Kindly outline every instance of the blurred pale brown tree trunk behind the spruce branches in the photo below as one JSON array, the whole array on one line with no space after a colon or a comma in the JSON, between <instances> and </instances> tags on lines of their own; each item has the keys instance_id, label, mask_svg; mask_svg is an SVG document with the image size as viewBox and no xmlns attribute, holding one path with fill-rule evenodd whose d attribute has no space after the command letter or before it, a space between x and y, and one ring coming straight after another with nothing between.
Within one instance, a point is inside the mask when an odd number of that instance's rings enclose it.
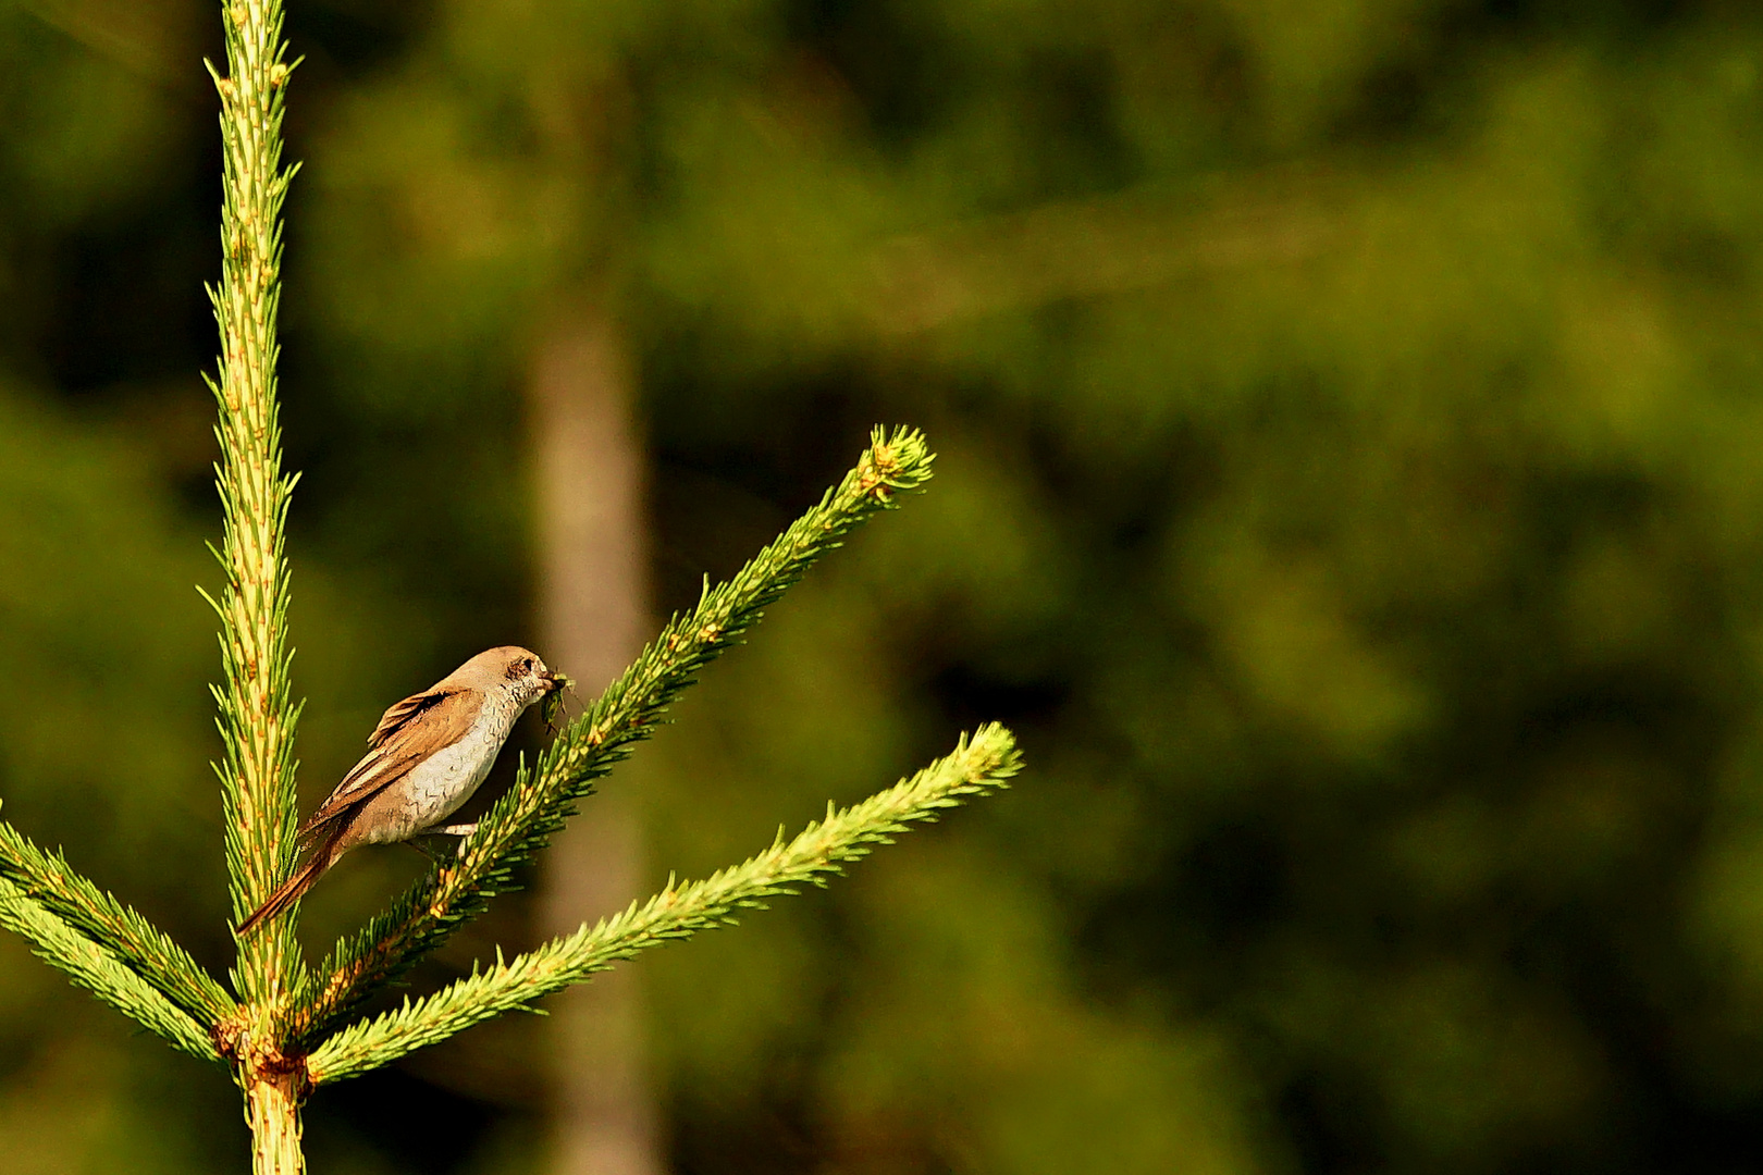
<instances>
[{"instance_id":1,"label":"blurred pale brown tree trunk behind the spruce branches","mask_svg":"<svg viewBox=\"0 0 1763 1175\"><path fill-rule=\"evenodd\" d=\"M640 650L647 615L643 460L617 329L578 310L541 338L532 377L543 657L594 698ZM626 905L642 835L617 787L591 798L545 854L541 930L564 934ZM552 1001L557 1175L658 1175L642 997L621 967Z\"/></svg>"}]
</instances>

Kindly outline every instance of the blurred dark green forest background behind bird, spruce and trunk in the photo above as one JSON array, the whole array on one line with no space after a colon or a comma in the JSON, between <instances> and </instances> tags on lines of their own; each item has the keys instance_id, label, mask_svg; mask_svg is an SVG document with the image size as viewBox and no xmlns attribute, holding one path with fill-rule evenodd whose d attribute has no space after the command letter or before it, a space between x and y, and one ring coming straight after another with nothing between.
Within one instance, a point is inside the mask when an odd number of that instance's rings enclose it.
<instances>
[{"instance_id":1,"label":"blurred dark green forest background behind bird, spruce and trunk","mask_svg":"<svg viewBox=\"0 0 1763 1175\"><path fill-rule=\"evenodd\" d=\"M666 1170L1763 1166L1763 12L289 9L309 805L541 639L559 317L628 356L651 613L871 423L941 453L606 787L649 884L982 719L1030 772L631 969ZM206 4L0 0L0 798L224 969L203 55ZM323 1090L314 1170L554 1170L547 1032ZM7 1171L243 1147L0 942Z\"/></svg>"}]
</instances>

